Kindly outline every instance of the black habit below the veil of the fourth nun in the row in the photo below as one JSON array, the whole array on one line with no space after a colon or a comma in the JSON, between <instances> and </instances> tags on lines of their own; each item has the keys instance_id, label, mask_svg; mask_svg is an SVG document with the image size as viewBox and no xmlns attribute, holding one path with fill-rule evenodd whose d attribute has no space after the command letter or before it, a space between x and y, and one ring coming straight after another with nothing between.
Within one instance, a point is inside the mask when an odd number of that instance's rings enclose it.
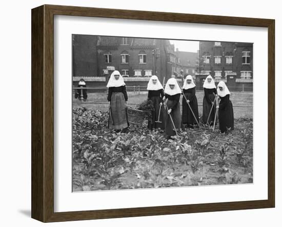
<instances>
[{"instance_id":1,"label":"black habit below the veil of the fourth nun in the row","mask_svg":"<svg viewBox=\"0 0 282 227\"><path fill-rule=\"evenodd\" d=\"M197 101L196 96L194 97L193 100L191 100L189 102L189 105L190 105L191 109L193 110L194 115L195 115L195 117L198 121L199 113L198 113L198 101ZM188 124L188 125L197 124L197 122L196 122L196 120L193 116L193 113L191 112L191 109L189 108L185 98L183 97L182 98L182 123L183 124Z\"/></svg>"}]
</instances>

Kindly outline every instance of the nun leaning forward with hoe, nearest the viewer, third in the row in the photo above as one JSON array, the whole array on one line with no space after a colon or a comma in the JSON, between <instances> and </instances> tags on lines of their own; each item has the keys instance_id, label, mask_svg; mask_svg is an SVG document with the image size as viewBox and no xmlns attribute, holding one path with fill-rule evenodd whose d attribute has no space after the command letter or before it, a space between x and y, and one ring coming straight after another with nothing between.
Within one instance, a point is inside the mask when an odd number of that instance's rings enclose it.
<instances>
[{"instance_id":1,"label":"nun leaning forward with hoe, nearest the viewer, third in the row","mask_svg":"<svg viewBox=\"0 0 282 227\"><path fill-rule=\"evenodd\" d=\"M165 121L167 138L171 138L171 136L175 136L176 135L175 129L179 130L181 127L180 103L179 103L180 94L181 94L181 89L178 86L176 79L170 78L167 81L165 87L165 96L163 98L163 100L167 99L167 103L164 104L167 107L166 121Z\"/></svg>"}]
</instances>

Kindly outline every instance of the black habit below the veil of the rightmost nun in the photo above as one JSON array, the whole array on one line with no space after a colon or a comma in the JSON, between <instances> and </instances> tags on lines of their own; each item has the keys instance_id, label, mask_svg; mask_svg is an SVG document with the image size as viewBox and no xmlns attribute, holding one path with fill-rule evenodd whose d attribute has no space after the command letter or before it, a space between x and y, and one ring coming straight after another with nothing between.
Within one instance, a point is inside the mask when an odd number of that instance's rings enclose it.
<instances>
[{"instance_id":1,"label":"black habit below the veil of the rightmost nun","mask_svg":"<svg viewBox=\"0 0 282 227\"><path fill-rule=\"evenodd\" d=\"M218 109L218 120L221 133L225 133L227 129L234 130L233 105L230 100L224 109Z\"/></svg>"}]
</instances>

